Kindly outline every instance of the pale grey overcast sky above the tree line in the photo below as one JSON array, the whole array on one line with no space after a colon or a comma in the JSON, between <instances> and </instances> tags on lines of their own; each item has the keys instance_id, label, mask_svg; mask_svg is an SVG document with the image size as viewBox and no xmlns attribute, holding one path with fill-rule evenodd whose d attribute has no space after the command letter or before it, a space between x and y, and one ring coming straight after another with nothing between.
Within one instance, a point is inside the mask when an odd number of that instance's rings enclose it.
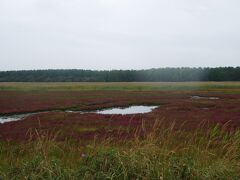
<instances>
[{"instance_id":1,"label":"pale grey overcast sky above the tree line","mask_svg":"<svg viewBox=\"0 0 240 180\"><path fill-rule=\"evenodd\" d=\"M239 0L0 0L0 70L240 66Z\"/></svg>"}]
</instances>

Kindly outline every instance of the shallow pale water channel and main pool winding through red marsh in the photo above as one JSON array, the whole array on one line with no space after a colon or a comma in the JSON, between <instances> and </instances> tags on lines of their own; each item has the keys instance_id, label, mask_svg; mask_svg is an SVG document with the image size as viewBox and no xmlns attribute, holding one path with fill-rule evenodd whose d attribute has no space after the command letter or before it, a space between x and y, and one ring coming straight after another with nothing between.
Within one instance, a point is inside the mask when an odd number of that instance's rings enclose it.
<instances>
[{"instance_id":1,"label":"shallow pale water channel and main pool winding through red marsh","mask_svg":"<svg viewBox=\"0 0 240 180\"><path fill-rule=\"evenodd\" d=\"M96 114L143 114L143 113L148 113L151 112L153 109L157 108L158 106L130 106L126 108L111 108L111 109L103 109L103 110L98 110L98 111L62 111L62 112L67 112L67 113L96 113ZM44 113L44 112L49 112L49 111L43 111L39 113ZM60 111L61 112L61 111ZM15 114L15 115L5 115L5 116L0 116L0 124L6 123L6 122L11 122L11 121L19 121L22 120L30 115L33 114L39 114L39 113L24 113L24 114Z\"/></svg>"}]
</instances>

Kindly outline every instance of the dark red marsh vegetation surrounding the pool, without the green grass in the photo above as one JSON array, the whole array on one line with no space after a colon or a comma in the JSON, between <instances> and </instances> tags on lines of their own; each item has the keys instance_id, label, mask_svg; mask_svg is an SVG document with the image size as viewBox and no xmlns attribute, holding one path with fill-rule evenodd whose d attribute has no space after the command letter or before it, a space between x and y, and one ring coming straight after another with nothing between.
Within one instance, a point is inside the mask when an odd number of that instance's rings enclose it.
<instances>
[{"instance_id":1,"label":"dark red marsh vegetation surrounding the pool, without the green grass","mask_svg":"<svg viewBox=\"0 0 240 180\"><path fill-rule=\"evenodd\" d=\"M195 96L192 97L192 96ZM203 98L196 98L196 96ZM217 98L209 98L217 97ZM45 112L24 120L0 124L0 139L26 140L33 132L60 132L60 139L93 139L95 136L129 138L142 123L151 130L156 120L175 122L175 128L195 129L199 124L240 127L240 94L218 91L0 91L0 114L46 110L97 110L129 105L159 105L150 113L101 115Z\"/></svg>"}]
</instances>

